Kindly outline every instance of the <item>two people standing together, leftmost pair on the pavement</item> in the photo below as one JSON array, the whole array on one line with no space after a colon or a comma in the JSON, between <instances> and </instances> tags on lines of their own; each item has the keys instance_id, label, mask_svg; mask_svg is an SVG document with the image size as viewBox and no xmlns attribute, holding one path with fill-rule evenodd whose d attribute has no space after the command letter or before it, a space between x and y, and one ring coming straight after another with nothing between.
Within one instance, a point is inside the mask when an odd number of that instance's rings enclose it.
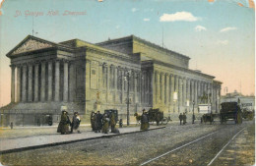
<instances>
[{"instance_id":1,"label":"two people standing together, leftmost pair on the pavement","mask_svg":"<svg viewBox=\"0 0 256 166\"><path fill-rule=\"evenodd\" d=\"M68 116L68 112L62 111L57 133L60 133L61 135L67 135L72 134L74 131L76 131L78 134L81 134L81 132L79 131L80 123L81 119L78 112L74 112L71 122ZM71 128L71 130L69 130L69 127Z\"/></svg>"}]
</instances>

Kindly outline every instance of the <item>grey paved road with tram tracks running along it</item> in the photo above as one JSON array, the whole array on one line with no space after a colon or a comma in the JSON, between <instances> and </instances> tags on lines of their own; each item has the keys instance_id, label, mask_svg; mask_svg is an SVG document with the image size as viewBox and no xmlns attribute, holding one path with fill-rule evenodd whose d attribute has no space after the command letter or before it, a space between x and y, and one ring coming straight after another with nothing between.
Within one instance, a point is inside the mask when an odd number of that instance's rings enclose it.
<instances>
[{"instance_id":1,"label":"grey paved road with tram tracks running along it","mask_svg":"<svg viewBox=\"0 0 256 166\"><path fill-rule=\"evenodd\" d=\"M212 165L246 165L254 163L253 132L252 122L239 126L172 125L162 130L4 154L0 160L8 165L208 165L223 150ZM249 150L247 160L235 158L237 153L231 153L234 149L239 149L240 156Z\"/></svg>"}]
</instances>

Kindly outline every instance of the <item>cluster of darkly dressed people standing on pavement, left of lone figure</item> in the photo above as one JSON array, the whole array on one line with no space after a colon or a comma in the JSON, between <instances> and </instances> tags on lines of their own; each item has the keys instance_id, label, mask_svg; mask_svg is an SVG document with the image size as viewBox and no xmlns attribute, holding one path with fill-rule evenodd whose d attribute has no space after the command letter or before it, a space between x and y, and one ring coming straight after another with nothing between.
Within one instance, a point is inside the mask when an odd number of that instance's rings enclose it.
<instances>
[{"instance_id":1,"label":"cluster of darkly dressed people standing on pavement, left of lone figure","mask_svg":"<svg viewBox=\"0 0 256 166\"><path fill-rule=\"evenodd\" d=\"M114 112L111 112L110 115L104 113L100 114L99 111L96 113L93 111L91 114L91 127L93 132L103 134L108 134L109 126L111 127L111 133L119 133L119 131L115 128L116 120Z\"/></svg>"}]
</instances>

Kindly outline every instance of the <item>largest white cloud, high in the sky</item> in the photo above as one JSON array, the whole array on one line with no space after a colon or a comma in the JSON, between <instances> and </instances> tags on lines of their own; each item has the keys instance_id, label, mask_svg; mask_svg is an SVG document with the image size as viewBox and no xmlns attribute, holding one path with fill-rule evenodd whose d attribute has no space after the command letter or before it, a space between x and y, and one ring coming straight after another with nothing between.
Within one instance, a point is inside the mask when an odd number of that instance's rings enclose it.
<instances>
[{"instance_id":1,"label":"largest white cloud, high in the sky","mask_svg":"<svg viewBox=\"0 0 256 166\"><path fill-rule=\"evenodd\" d=\"M175 14L163 14L160 17L160 22L176 22L176 21L185 21L185 22L196 22L200 18L194 17L189 12L176 12Z\"/></svg>"}]
</instances>

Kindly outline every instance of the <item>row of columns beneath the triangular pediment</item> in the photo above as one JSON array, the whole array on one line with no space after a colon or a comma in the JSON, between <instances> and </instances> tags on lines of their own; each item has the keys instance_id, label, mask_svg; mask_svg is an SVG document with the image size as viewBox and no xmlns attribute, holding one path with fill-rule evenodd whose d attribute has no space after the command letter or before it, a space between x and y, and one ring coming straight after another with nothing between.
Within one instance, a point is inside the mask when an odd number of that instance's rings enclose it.
<instances>
[{"instance_id":1,"label":"row of columns beneath the triangular pediment","mask_svg":"<svg viewBox=\"0 0 256 166\"><path fill-rule=\"evenodd\" d=\"M11 65L11 101L73 101L75 96L74 64L48 60ZM17 76L16 74L17 70ZM15 89L15 85L17 85ZM16 96L16 97L15 97Z\"/></svg>"}]
</instances>

